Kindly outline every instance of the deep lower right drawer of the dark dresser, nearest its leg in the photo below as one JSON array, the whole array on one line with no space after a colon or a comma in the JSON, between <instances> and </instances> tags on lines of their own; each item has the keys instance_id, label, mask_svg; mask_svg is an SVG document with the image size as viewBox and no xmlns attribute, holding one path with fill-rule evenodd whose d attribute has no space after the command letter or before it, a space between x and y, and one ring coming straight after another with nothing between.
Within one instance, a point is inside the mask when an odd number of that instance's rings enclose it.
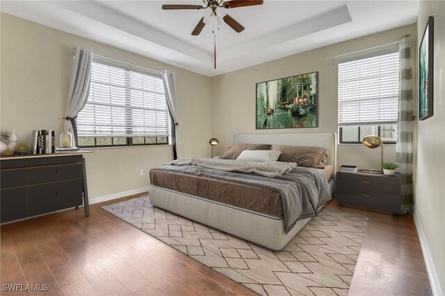
<instances>
[{"instance_id":1,"label":"deep lower right drawer of the dark dresser, nearest its leg","mask_svg":"<svg viewBox=\"0 0 445 296\"><path fill-rule=\"evenodd\" d=\"M29 186L28 216L81 205L82 186L82 180Z\"/></svg>"}]
</instances>

